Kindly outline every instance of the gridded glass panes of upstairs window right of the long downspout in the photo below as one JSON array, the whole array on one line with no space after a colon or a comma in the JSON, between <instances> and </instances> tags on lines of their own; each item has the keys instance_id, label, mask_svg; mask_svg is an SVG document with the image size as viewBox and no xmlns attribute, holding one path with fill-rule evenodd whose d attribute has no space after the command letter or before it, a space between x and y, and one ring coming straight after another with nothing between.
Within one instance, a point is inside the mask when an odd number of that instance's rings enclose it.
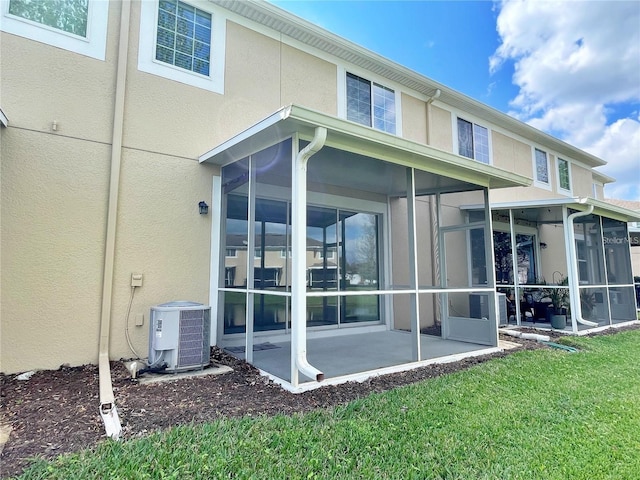
<instances>
[{"instance_id":1,"label":"gridded glass panes of upstairs window right of the long downspout","mask_svg":"<svg viewBox=\"0 0 640 480\"><path fill-rule=\"evenodd\" d=\"M211 14L178 0L160 0L156 60L209 75Z\"/></svg>"}]
</instances>

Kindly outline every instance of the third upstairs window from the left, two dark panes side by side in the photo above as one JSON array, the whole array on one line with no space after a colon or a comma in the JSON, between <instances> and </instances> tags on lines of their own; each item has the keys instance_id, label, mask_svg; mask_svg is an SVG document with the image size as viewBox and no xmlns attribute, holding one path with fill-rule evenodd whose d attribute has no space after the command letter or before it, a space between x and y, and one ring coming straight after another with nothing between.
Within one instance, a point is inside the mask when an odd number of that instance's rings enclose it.
<instances>
[{"instance_id":1,"label":"third upstairs window from the left, two dark panes side by side","mask_svg":"<svg viewBox=\"0 0 640 480\"><path fill-rule=\"evenodd\" d=\"M347 120L395 134L395 92L347 73Z\"/></svg>"}]
</instances>

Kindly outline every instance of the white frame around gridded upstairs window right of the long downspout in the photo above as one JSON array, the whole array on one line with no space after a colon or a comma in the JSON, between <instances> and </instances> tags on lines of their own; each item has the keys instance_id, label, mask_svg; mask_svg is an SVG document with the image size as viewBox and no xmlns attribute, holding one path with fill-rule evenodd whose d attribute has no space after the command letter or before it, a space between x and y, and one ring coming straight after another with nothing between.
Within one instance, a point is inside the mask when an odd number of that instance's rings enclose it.
<instances>
[{"instance_id":1,"label":"white frame around gridded upstairs window right of the long downspout","mask_svg":"<svg viewBox=\"0 0 640 480\"><path fill-rule=\"evenodd\" d=\"M221 10L213 7L210 2L203 0L180 1L211 14L211 63L209 75L202 75L156 60L158 0L141 2L138 70L192 87L224 94L224 52L227 19L221 13Z\"/></svg>"}]
</instances>

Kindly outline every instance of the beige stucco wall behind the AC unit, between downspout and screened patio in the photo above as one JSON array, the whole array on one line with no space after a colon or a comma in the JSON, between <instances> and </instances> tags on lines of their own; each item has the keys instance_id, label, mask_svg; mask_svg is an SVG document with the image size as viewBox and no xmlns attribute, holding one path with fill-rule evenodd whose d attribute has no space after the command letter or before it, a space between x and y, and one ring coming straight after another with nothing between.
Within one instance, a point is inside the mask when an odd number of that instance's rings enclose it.
<instances>
[{"instance_id":1,"label":"beige stucco wall behind the AC unit, between downspout and screened patio","mask_svg":"<svg viewBox=\"0 0 640 480\"><path fill-rule=\"evenodd\" d=\"M128 323L133 346L143 357L147 355L151 306L173 300L208 304L211 213L200 215L198 202L210 203L211 176L216 171L194 160L123 152L112 357L134 356L125 338L132 273L144 276L142 287L135 291ZM144 315L144 325L135 325L136 315Z\"/></svg>"}]
</instances>

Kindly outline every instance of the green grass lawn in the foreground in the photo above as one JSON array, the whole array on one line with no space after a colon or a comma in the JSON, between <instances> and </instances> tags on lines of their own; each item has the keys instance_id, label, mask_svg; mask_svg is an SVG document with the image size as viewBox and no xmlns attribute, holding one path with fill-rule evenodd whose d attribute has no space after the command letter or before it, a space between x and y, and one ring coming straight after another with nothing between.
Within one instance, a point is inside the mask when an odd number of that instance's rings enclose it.
<instances>
[{"instance_id":1,"label":"green grass lawn in the foreground","mask_svg":"<svg viewBox=\"0 0 640 480\"><path fill-rule=\"evenodd\" d=\"M640 330L570 344L332 410L105 442L20 478L640 478Z\"/></svg>"}]
</instances>

